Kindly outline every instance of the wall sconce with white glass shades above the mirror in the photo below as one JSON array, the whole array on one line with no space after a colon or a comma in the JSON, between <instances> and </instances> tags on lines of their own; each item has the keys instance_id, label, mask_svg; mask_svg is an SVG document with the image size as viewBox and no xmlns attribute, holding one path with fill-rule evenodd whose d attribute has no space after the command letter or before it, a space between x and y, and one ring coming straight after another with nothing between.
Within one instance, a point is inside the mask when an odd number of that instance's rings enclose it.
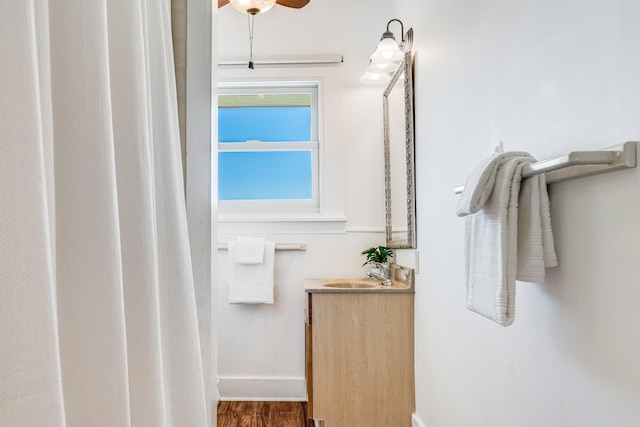
<instances>
[{"instance_id":1,"label":"wall sconce with white glass shades above the mirror","mask_svg":"<svg viewBox=\"0 0 640 427\"><path fill-rule=\"evenodd\" d=\"M400 35L402 40L400 43L396 41L395 36L389 30L392 22L400 24ZM410 52L413 47L413 28L409 28L404 32L404 25L399 19L392 19L387 22L387 31L382 33L380 42L376 50L371 54L369 65L365 69L364 74L360 77L362 83L382 84L391 79L391 75L398 69L400 61L406 52Z\"/></svg>"}]
</instances>

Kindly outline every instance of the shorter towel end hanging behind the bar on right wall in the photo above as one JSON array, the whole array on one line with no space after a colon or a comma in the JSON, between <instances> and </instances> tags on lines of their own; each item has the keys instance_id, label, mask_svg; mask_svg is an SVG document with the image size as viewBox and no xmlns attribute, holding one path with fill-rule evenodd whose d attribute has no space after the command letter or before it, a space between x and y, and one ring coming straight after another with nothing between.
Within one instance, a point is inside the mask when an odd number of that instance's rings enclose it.
<instances>
[{"instance_id":1,"label":"shorter towel end hanging behind the bar on right wall","mask_svg":"<svg viewBox=\"0 0 640 427\"><path fill-rule=\"evenodd\" d=\"M546 268L556 265L547 181L544 174L534 175L520 189L516 279L544 283Z\"/></svg>"}]
</instances>

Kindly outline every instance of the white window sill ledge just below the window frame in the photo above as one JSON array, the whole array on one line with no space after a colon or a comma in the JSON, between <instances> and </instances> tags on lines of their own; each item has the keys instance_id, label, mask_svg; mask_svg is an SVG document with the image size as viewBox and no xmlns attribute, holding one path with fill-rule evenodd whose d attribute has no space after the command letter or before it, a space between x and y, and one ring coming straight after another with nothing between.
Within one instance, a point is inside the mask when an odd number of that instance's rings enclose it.
<instances>
[{"instance_id":1,"label":"white window sill ledge just below the window frame","mask_svg":"<svg viewBox=\"0 0 640 427\"><path fill-rule=\"evenodd\" d=\"M220 214L220 233L344 234L347 218L343 216L282 214Z\"/></svg>"}]
</instances>

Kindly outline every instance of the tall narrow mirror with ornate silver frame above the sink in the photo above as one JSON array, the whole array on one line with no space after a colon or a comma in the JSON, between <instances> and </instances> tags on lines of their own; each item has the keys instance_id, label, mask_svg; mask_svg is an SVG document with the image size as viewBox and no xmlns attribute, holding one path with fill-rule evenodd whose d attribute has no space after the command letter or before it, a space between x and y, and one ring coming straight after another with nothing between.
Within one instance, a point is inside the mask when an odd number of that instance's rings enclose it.
<instances>
[{"instance_id":1,"label":"tall narrow mirror with ornate silver frame above the sink","mask_svg":"<svg viewBox=\"0 0 640 427\"><path fill-rule=\"evenodd\" d=\"M404 55L384 91L384 174L387 246L416 247L413 56Z\"/></svg>"}]
</instances>

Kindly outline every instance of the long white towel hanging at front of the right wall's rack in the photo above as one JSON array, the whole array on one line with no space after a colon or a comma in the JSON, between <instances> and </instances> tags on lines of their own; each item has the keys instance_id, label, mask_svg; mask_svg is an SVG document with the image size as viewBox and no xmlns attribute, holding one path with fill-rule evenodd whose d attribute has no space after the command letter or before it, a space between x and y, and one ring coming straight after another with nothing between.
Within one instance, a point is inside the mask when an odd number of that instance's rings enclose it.
<instances>
[{"instance_id":1,"label":"long white towel hanging at front of the right wall's rack","mask_svg":"<svg viewBox=\"0 0 640 427\"><path fill-rule=\"evenodd\" d=\"M492 189L470 185L474 180L469 180L464 189L464 192L489 195L477 213L467 216L467 306L503 326L513 323L515 314L518 196L522 168L534 161L526 153L510 156L497 168ZM493 167L486 162L480 167L487 166ZM474 171L473 175L480 177L485 173ZM475 183L490 185L486 179L475 180Z\"/></svg>"}]
</instances>

